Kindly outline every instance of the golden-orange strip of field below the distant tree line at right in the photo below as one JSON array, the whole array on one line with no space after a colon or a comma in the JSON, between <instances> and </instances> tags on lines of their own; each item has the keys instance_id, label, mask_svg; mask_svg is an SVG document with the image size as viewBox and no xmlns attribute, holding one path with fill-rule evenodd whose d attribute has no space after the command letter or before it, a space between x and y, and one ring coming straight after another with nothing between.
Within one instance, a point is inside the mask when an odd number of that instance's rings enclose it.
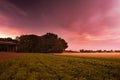
<instances>
[{"instance_id":1,"label":"golden-orange strip of field below the distant tree line at right","mask_svg":"<svg viewBox=\"0 0 120 80\"><path fill-rule=\"evenodd\" d=\"M55 55L120 59L120 53L62 53Z\"/></svg>"}]
</instances>

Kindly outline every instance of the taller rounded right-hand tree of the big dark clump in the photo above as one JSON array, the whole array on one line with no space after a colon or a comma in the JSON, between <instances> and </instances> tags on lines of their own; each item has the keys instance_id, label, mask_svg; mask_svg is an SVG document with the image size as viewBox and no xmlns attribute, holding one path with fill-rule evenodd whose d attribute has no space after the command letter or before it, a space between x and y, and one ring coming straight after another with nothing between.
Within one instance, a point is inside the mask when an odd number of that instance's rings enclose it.
<instances>
[{"instance_id":1,"label":"taller rounded right-hand tree of the big dark clump","mask_svg":"<svg viewBox=\"0 0 120 80\"><path fill-rule=\"evenodd\" d=\"M53 33L47 33L41 36L41 40L41 52L61 53L68 47L67 42L64 39L59 38L56 34Z\"/></svg>"}]
</instances>

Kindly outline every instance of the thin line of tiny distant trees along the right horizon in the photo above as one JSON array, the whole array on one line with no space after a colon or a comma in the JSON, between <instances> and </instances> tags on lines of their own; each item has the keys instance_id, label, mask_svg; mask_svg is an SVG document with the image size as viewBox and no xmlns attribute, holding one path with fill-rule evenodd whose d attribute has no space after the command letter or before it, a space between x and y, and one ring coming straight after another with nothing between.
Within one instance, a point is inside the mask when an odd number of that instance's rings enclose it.
<instances>
[{"instance_id":1,"label":"thin line of tiny distant trees along the right horizon","mask_svg":"<svg viewBox=\"0 0 120 80\"><path fill-rule=\"evenodd\" d=\"M120 52L120 50L85 50L85 49L80 49L81 53L103 53L103 52Z\"/></svg>"}]
</instances>

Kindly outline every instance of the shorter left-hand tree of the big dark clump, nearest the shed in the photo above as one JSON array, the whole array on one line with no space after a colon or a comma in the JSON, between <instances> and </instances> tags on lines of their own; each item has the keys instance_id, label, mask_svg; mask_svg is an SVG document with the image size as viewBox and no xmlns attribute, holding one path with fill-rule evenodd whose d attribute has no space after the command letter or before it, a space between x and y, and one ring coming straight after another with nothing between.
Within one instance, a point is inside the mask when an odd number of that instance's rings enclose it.
<instances>
[{"instance_id":1,"label":"shorter left-hand tree of the big dark clump, nearest the shed","mask_svg":"<svg viewBox=\"0 0 120 80\"><path fill-rule=\"evenodd\" d=\"M37 35L22 35L19 37L19 52L35 52L36 45L38 42Z\"/></svg>"}]
</instances>

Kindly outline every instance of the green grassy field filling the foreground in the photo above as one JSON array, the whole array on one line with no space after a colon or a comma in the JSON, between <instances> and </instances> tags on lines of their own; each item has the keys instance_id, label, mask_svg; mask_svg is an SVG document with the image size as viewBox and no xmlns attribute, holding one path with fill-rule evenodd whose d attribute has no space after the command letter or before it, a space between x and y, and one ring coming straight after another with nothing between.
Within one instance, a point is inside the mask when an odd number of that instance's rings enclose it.
<instances>
[{"instance_id":1,"label":"green grassy field filling the foreground","mask_svg":"<svg viewBox=\"0 0 120 80\"><path fill-rule=\"evenodd\" d=\"M120 80L120 60L25 54L0 62L0 80Z\"/></svg>"}]
</instances>

